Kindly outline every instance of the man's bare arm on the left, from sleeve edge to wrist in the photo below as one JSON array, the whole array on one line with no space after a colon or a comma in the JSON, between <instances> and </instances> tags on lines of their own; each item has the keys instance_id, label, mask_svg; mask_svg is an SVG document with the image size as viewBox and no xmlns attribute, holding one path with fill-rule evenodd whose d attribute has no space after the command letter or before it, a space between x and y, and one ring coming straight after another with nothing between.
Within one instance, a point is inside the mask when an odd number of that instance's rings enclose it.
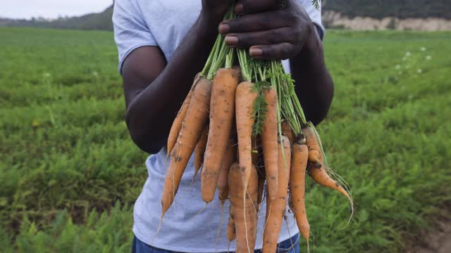
<instances>
[{"instance_id":1,"label":"man's bare arm on the left, from sleeve edge to wrist","mask_svg":"<svg viewBox=\"0 0 451 253\"><path fill-rule=\"evenodd\" d=\"M218 23L230 4L208 2L203 1L201 15L169 63L156 46L137 48L124 60L125 121L132 140L147 153L157 153L166 144L173 119L209 56Z\"/></svg>"}]
</instances>

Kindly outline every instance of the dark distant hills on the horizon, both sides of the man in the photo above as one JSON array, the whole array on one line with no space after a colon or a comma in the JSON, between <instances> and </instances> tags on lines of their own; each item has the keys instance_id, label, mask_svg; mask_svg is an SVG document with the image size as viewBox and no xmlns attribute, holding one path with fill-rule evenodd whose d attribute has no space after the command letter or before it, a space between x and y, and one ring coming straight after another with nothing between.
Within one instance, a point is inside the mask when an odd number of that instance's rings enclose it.
<instances>
[{"instance_id":1,"label":"dark distant hills on the horizon, both sides of the man","mask_svg":"<svg viewBox=\"0 0 451 253\"><path fill-rule=\"evenodd\" d=\"M323 0L323 11L333 11L348 18L444 18L451 20L451 0ZM113 30L113 6L92 13L57 20L11 20L0 18L0 26L49 27L82 30Z\"/></svg>"}]
</instances>

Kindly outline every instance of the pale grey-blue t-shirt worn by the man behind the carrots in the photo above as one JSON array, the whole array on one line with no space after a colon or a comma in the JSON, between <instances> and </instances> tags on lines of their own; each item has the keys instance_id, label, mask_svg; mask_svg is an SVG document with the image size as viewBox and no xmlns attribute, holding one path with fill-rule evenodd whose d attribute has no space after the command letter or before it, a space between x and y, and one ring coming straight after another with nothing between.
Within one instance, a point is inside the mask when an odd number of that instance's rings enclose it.
<instances>
[{"instance_id":1,"label":"pale grey-blue t-shirt worn by the man behind the carrots","mask_svg":"<svg viewBox=\"0 0 451 253\"><path fill-rule=\"evenodd\" d=\"M311 0L297 1L309 13L311 20L318 25L323 34L321 11L311 5ZM119 71L121 72L123 60L128 54L141 46L159 46L166 60L171 60L175 48L190 30L201 8L201 0L116 0L113 24L119 52ZM284 65L288 67L288 62ZM214 202L196 216L204 208L204 202L200 190L200 176L190 187L194 174L193 160L192 157L187 164L174 203L164 216L160 231L156 235L161 218L161 191L168 167L166 146L159 153L147 158L145 164L149 177L135 202L133 233L142 242L161 249L176 252L227 252L229 203L226 202L221 216L221 205L216 191ZM261 205L257 249L262 245L266 210L265 202ZM221 234L218 237L221 220ZM286 223L283 222L280 230L279 242L288 240L298 232L293 215L288 214L288 220ZM235 242L230 245L230 251L234 250Z\"/></svg>"}]
</instances>

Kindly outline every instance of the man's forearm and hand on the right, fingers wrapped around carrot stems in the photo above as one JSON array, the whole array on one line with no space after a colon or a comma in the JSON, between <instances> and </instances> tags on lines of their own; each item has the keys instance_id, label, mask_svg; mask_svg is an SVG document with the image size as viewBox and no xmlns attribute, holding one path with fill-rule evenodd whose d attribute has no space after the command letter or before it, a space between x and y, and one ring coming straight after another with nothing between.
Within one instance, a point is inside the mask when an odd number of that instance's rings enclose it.
<instances>
[{"instance_id":1,"label":"man's forearm and hand on the right, fingers wrapped around carrot stems","mask_svg":"<svg viewBox=\"0 0 451 253\"><path fill-rule=\"evenodd\" d=\"M290 59L295 92L307 119L319 124L333 98L333 80L324 63L323 45L316 26L296 0L239 0L235 20L221 22L218 30L226 44L249 48L258 59Z\"/></svg>"}]
</instances>

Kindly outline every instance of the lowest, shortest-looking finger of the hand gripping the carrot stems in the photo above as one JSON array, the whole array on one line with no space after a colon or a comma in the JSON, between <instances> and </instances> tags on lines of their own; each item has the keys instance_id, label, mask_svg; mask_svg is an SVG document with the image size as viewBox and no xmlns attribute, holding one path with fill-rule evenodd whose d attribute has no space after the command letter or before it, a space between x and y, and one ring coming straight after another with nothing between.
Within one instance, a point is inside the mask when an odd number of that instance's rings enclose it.
<instances>
[{"instance_id":1,"label":"lowest, shortest-looking finger of the hand gripping the carrot stems","mask_svg":"<svg viewBox=\"0 0 451 253\"><path fill-rule=\"evenodd\" d=\"M249 55L261 60L286 60L294 54L295 45L284 42L275 45L252 46Z\"/></svg>"}]
</instances>

